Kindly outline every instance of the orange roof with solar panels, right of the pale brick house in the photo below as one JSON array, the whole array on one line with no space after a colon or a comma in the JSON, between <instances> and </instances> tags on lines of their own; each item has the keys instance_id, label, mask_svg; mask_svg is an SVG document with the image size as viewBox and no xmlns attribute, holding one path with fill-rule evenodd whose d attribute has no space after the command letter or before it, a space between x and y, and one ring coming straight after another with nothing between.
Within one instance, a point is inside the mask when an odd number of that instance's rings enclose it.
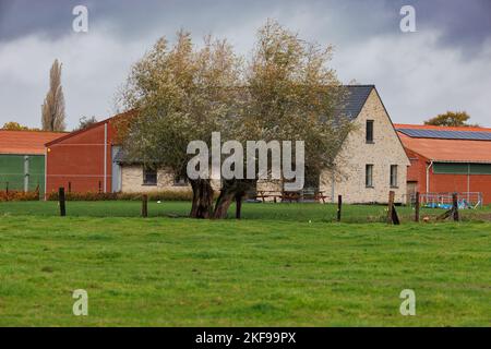
<instances>
[{"instance_id":1,"label":"orange roof with solar panels, right of the pale brick house","mask_svg":"<svg viewBox=\"0 0 491 349\"><path fill-rule=\"evenodd\" d=\"M442 131L491 132L486 128L447 128L431 125L396 124L396 129L423 129ZM441 140L410 137L398 132L404 146L423 157L442 163L487 163L491 164L491 142L470 140Z\"/></svg>"}]
</instances>

